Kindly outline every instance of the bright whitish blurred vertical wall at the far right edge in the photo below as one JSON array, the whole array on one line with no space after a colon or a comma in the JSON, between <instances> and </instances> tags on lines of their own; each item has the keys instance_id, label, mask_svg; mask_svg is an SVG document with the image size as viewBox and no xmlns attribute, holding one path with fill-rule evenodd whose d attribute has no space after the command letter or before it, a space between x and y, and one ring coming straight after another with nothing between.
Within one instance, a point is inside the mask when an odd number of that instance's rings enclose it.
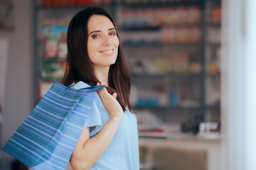
<instances>
[{"instance_id":1,"label":"bright whitish blurred vertical wall at the far right edge","mask_svg":"<svg viewBox=\"0 0 256 170\"><path fill-rule=\"evenodd\" d=\"M255 8L255 0L223 0L223 170L256 169Z\"/></svg>"}]
</instances>

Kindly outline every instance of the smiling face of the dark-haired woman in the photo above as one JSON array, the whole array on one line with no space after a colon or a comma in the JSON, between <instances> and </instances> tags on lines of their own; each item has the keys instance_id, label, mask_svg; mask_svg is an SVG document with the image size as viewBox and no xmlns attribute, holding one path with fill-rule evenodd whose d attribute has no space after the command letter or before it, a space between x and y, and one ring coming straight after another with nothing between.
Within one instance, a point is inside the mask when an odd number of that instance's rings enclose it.
<instances>
[{"instance_id":1,"label":"smiling face of the dark-haired woman","mask_svg":"<svg viewBox=\"0 0 256 170\"><path fill-rule=\"evenodd\" d=\"M107 16L93 15L87 25L87 50L94 67L110 67L117 60L117 30Z\"/></svg>"}]
</instances>

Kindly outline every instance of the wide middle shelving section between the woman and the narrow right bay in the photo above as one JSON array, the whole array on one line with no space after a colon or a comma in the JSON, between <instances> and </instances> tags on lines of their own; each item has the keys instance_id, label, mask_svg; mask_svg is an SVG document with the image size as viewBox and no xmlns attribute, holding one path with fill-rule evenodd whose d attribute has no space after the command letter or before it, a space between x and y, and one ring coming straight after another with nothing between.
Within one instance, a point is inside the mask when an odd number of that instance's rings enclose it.
<instances>
[{"instance_id":1,"label":"wide middle shelving section between the woman and the narrow right bay","mask_svg":"<svg viewBox=\"0 0 256 170\"><path fill-rule=\"evenodd\" d=\"M198 127L206 118L205 1L126 0L118 6L140 137L169 138L168 125L187 121Z\"/></svg>"}]
</instances>

